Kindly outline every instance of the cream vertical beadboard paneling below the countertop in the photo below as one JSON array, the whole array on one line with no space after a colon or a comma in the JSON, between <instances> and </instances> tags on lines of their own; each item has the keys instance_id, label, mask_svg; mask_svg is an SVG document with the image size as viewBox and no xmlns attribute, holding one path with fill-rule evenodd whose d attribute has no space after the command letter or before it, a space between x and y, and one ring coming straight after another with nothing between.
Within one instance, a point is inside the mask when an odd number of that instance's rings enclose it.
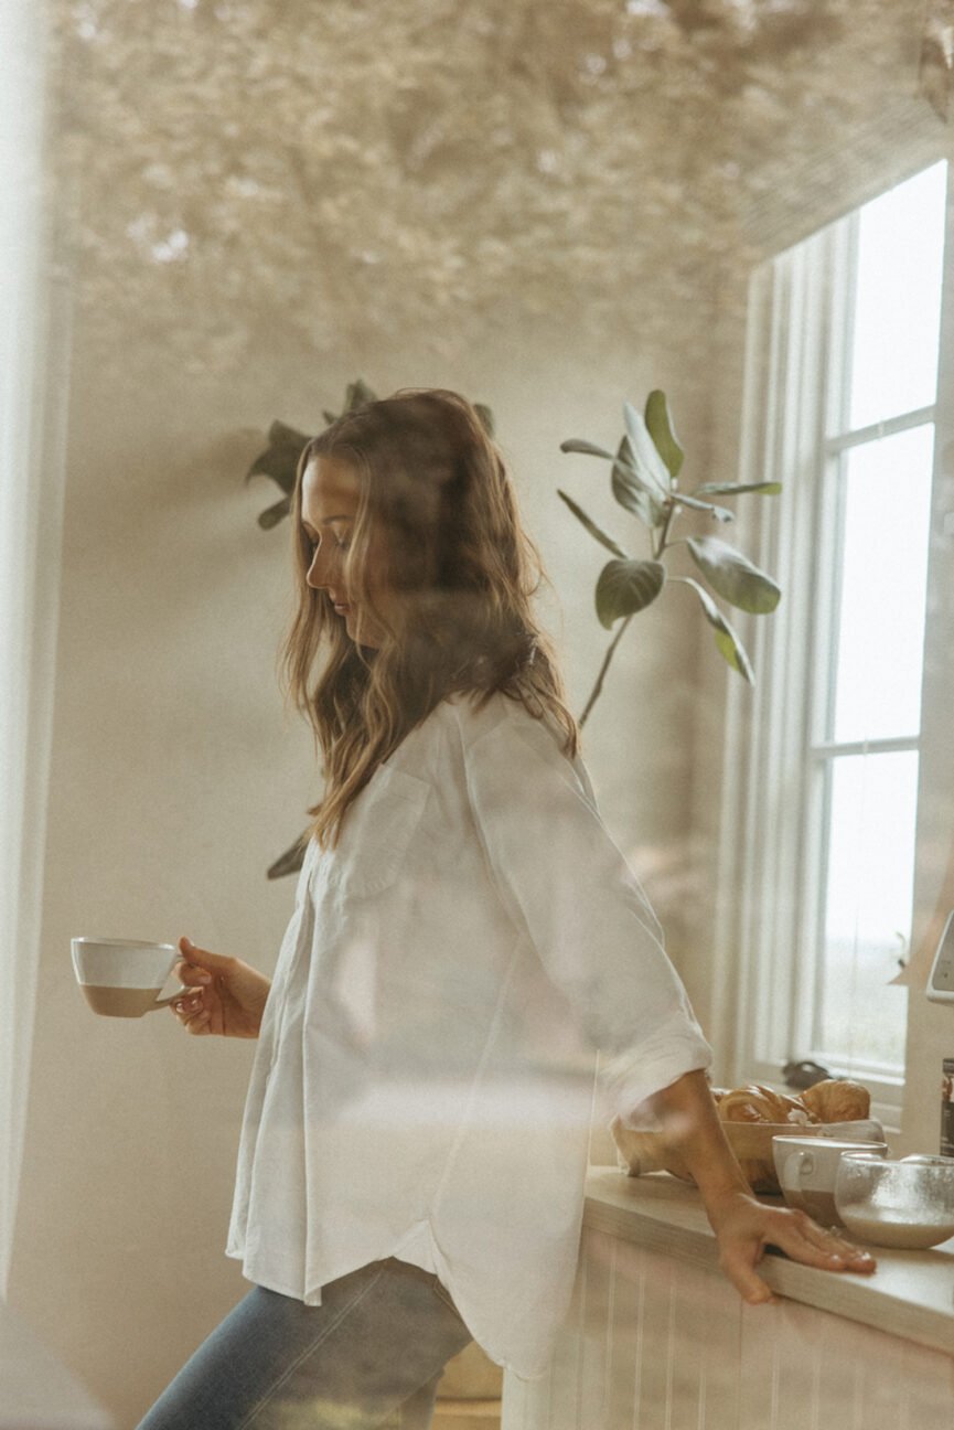
<instances>
[{"instance_id":1,"label":"cream vertical beadboard paneling below the countertop","mask_svg":"<svg viewBox=\"0 0 954 1430\"><path fill-rule=\"evenodd\" d=\"M711 1268L585 1230L548 1374L502 1430L947 1430L954 1358L830 1311L745 1306Z\"/></svg>"}]
</instances>

